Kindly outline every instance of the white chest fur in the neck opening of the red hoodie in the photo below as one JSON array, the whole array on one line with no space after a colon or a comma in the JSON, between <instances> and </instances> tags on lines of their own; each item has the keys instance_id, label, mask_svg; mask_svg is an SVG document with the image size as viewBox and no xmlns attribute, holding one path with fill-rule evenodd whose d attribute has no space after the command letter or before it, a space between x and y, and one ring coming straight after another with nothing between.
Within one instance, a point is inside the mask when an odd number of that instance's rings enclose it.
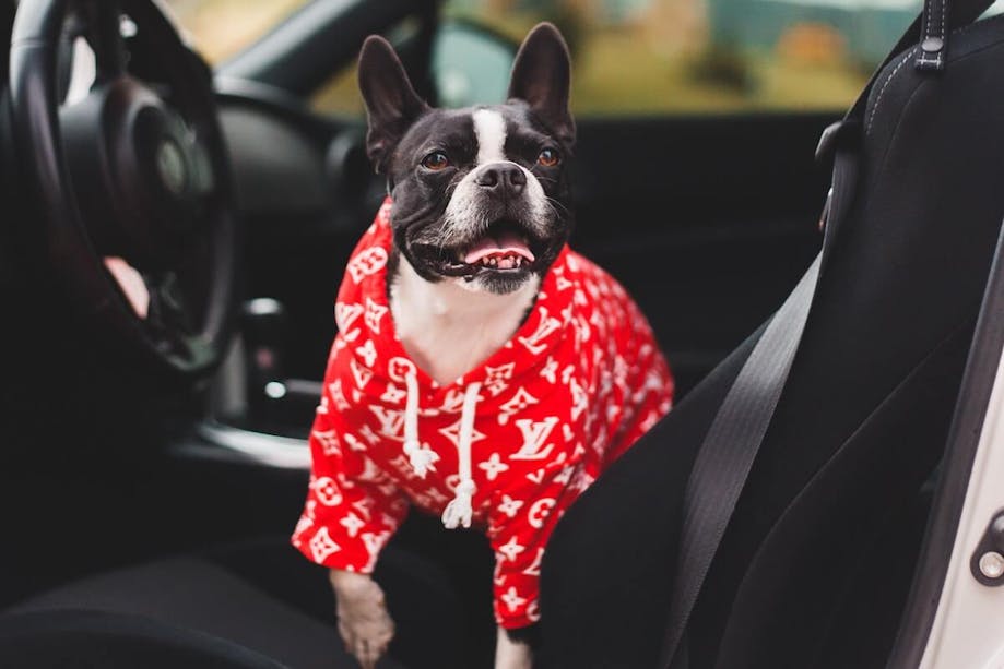
<instances>
[{"instance_id":1,"label":"white chest fur in the neck opening of the red hoodie","mask_svg":"<svg viewBox=\"0 0 1004 669\"><path fill-rule=\"evenodd\" d=\"M452 383L498 350L533 304L539 279L508 295L429 283L401 258L390 310L404 350L437 383Z\"/></svg>"}]
</instances>

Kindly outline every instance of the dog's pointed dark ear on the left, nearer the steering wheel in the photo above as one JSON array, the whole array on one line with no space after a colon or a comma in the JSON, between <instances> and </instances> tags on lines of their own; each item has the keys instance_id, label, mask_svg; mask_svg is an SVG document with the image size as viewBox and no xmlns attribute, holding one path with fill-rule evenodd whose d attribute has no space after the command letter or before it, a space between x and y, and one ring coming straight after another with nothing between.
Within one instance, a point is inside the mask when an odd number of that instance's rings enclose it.
<instances>
[{"instance_id":1,"label":"dog's pointed dark ear on the left, nearer the steering wheel","mask_svg":"<svg viewBox=\"0 0 1004 669\"><path fill-rule=\"evenodd\" d=\"M369 119L366 154L377 171L383 172L394 146L429 107L415 93L393 47L379 35L363 43L359 91Z\"/></svg>"}]
</instances>

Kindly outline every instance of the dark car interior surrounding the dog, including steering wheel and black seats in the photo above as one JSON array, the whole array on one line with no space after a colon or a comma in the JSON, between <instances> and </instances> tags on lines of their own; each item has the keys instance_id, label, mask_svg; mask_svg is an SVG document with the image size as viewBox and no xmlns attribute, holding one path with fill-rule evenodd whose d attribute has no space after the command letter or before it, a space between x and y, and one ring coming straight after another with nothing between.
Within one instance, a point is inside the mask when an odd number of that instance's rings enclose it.
<instances>
[{"instance_id":1,"label":"dark car interior surrounding the dog, including steering wheel and black seats","mask_svg":"<svg viewBox=\"0 0 1004 669\"><path fill-rule=\"evenodd\" d=\"M356 666L288 536L334 294L385 183L365 119L309 100L373 33L430 103L452 99L444 35L508 67L518 41L441 4L317 0L210 64L150 0L0 3L0 665ZM819 152L843 109L577 119L571 243L635 297L677 401L559 524L540 666L673 659L688 476L820 249L674 666L886 666L1004 214L1004 24L979 4L952 8L944 71L913 67L912 34ZM113 258L142 271L145 319ZM491 551L436 525L412 514L378 566L380 667L492 664Z\"/></svg>"}]
</instances>

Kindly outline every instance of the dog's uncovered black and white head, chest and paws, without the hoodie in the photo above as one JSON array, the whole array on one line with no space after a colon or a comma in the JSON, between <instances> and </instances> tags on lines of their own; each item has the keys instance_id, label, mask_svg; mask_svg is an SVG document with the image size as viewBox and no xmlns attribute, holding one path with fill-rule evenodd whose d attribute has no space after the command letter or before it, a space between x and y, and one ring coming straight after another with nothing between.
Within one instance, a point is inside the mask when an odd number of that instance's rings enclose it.
<instances>
[{"instance_id":1,"label":"dog's uncovered black and white head, chest and paws, without the hoodie","mask_svg":"<svg viewBox=\"0 0 1004 669\"><path fill-rule=\"evenodd\" d=\"M541 24L519 50L506 104L433 109L386 40L363 47L367 152L393 193L391 311L411 358L440 383L512 336L568 239L569 75L564 39ZM382 593L353 572L333 570L331 582L341 633L369 665L393 635ZM529 645L499 629L496 667L530 666Z\"/></svg>"}]
</instances>

